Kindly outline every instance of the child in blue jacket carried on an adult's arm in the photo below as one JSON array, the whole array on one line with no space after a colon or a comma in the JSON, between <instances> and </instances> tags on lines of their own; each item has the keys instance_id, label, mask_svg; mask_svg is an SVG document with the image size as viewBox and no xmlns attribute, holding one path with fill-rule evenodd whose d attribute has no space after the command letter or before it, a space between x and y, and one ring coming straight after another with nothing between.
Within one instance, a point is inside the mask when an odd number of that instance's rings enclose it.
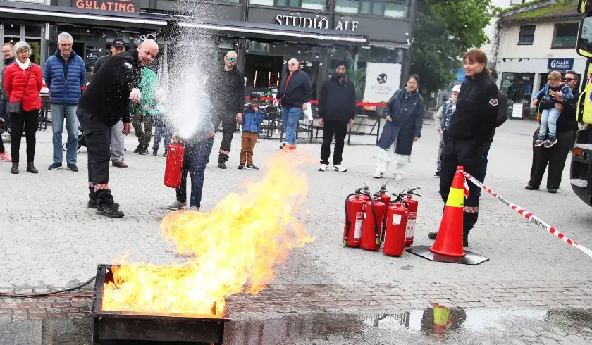
<instances>
[{"instance_id":1,"label":"child in blue jacket carried on an adult's arm","mask_svg":"<svg viewBox=\"0 0 592 345\"><path fill-rule=\"evenodd\" d=\"M557 144L557 119L563 110L563 104L556 99L561 97L565 101L574 99L572 89L561 82L562 75L557 71L549 73L547 77L548 83L539 91L533 104L541 102L540 108L543 109L541 114L541 127L538 130L538 140L534 142L534 146L545 146L546 149ZM547 138L547 134L548 138Z\"/></svg>"}]
</instances>

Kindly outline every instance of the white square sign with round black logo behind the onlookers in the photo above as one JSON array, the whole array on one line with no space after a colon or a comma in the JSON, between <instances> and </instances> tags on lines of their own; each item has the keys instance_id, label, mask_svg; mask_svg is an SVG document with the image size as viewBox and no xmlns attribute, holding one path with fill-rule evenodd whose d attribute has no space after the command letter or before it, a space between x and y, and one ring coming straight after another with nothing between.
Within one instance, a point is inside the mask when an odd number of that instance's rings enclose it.
<instances>
[{"instance_id":1,"label":"white square sign with round black logo behind the onlookers","mask_svg":"<svg viewBox=\"0 0 592 345\"><path fill-rule=\"evenodd\" d=\"M364 102L388 102L395 91L399 89L400 82L400 63L368 63L366 65Z\"/></svg>"}]
</instances>

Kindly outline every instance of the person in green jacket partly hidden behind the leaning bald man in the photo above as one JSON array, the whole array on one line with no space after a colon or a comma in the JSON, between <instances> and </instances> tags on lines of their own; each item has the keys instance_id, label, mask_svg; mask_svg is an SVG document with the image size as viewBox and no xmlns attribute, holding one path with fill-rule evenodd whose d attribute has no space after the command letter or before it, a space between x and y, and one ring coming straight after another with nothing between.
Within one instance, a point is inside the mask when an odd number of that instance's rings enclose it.
<instances>
[{"instance_id":1,"label":"person in green jacket partly hidden behind the leaning bald man","mask_svg":"<svg viewBox=\"0 0 592 345\"><path fill-rule=\"evenodd\" d=\"M154 119L150 112L156 106L156 97L154 94L158 89L158 78L156 73L150 68L142 68L142 79L140 80L140 92L142 92L142 100L140 105L134 103L132 105L132 114L134 116L132 123L136 132L137 141L139 142L134 153L142 155L148 154L148 145L152 139L152 125ZM144 122L144 129L142 130L142 122Z\"/></svg>"}]
</instances>

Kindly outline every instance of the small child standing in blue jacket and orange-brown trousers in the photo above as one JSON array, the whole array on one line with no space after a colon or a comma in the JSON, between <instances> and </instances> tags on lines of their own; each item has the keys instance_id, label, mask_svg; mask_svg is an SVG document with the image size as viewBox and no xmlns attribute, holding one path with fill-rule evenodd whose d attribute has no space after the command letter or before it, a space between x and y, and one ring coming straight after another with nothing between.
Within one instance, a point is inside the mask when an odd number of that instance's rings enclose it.
<instances>
[{"instance_id":1,"label":"small child standing in blue jacket and orange-brown trousers","mask_svg":"<svg viewBox=\"0 0 592 345\"><path fill-rule=\"evenodd\" d=\"M252 93L251 103L245 106L245 116L242 118L242 144L240 146L239 169L259 170L259 168L253 165L253 149L264 118L265 113L259 107L259 95Z\"/></svg>"}]
</instances>

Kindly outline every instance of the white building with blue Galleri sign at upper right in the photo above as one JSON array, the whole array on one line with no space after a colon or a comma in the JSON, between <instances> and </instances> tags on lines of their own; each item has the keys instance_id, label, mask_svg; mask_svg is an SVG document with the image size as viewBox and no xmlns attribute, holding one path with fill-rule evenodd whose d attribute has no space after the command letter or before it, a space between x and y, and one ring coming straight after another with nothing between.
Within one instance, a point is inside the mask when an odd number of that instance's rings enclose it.
<instances>
[{"instance_id":1,"label":"white building with blue Galleri sign at upper right","mask_svg":"<svg viewBox=\"0 0 592 345\"><path fill-rule=\"evenodd\" d=\"M575 49L581 18L576 4L555 1L500 16L498 87L510 103L522 103L524 115L534 113L532 99L545 86L551 71L575 70L581 80L586 58Z\"/></svg>"}]
</instances>

